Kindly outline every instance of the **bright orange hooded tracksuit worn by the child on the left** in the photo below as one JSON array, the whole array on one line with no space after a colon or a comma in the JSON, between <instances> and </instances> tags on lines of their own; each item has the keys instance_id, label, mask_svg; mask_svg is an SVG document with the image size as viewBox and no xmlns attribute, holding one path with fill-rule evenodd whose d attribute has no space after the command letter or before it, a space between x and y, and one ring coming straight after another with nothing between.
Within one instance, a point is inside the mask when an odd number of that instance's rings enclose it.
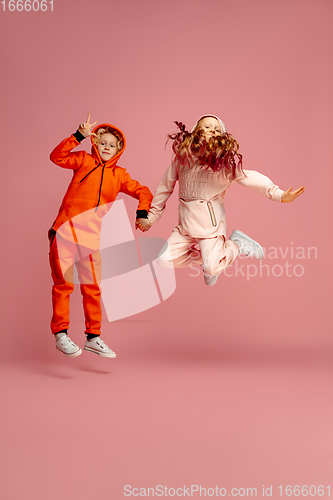
<instances>
[{"instance_id":1,"label":"bright orange hooded tracksuit worn by the child on the left","mask_svg":"<svg viewBox=\"0 0 333 500\"><path fill-rule=\"evenodd\" d=\"M72 152L84 138L78 131L64 139L50 155L51 161L59 167L73 170L73 178L49 231L50 266L54 283L51 331L54 334L67 330L69 326L69 300L74 289L75 263L83 296L85 333L100 335L101 219L119 192L139 200L137 217L147 216L153 198L146 186L131 179L126 169L117 166L117 161L126 146L125 136L121 130L114 125L104 123L95 127L93 132L96 133L99 128L106 127L117 130L124 144L122 150L107 162L101 160L92 137L91 154L86 151ZM78 220L79 224L76 222Z\"/></svg>"}]
</instances>

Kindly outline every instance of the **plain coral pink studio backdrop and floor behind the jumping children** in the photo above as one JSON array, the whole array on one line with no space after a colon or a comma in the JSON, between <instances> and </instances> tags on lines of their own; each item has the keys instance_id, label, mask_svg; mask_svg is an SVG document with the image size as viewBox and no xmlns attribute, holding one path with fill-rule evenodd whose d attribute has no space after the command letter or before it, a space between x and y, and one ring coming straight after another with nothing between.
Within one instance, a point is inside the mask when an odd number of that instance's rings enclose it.
<instances>
[{"instance_id":1,"label":"plain coral pink studio backdrop and floor behind the jumping children","mask_svg":"<svg viewBox=\"0 0 333 500\"><path fill-rule=\"evenodd\" d=\"M272 485L279 498L280 485L330 484L332 14L329 0L1 10L1 498L118 500L125 485L159 484L258 496ZM280 248L265 263L302 265L303 275L220 277L208 288L178 270L167 301L103 323L116 360L61 356L49 333L46 233L71 173L48 156L88 111L124 131L121 166L152 190L173 121L220 116L244 168L307 188L279 205L233 187L229 232ZM176 220L174 195L149 236L167 238ZM316 247L317 258L292 258L296 247ZM80 345L83 328L76 293Z\"/></svg>"}]
</instances>

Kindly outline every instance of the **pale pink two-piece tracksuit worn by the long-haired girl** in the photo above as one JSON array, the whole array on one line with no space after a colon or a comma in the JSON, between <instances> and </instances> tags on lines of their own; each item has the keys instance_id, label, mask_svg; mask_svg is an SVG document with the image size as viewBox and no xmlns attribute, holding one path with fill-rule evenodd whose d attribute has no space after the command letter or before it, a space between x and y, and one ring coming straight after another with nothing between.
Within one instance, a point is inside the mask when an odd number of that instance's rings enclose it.
<instances>
[{"instance_id":1,"label":"pale pink two-piece tracksuit worn by the long-haired girl","mask_svg":"<svg viewBox=\"0 0 333 500\"><path fill-rule=\"evenodd\" d=\"M211 116L211 115L210 115ZM232 181L224 170L214 172L199 162L193 167L176 167L173 163L163 175L148 213L149 222L163 214L166 202L179 181L178 226L168 239L168 249L158 262L166 267L203 264L204 271L216 276L237 257L239 246L226 239L224 197L232 182L249 187L274 201L281 201L283 191L268 177L244 170ZM195 249L195 246L199 250Z\"/></svg>"}]
</instances>

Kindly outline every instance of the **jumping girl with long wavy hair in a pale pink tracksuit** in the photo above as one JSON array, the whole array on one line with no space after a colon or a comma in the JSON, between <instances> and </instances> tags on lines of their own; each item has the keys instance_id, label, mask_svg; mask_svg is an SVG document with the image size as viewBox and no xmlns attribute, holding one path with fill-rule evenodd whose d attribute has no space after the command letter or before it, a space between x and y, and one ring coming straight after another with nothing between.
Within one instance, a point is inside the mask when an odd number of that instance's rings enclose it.
<instances>
[{"instance_id":1,"label":"jumping girl with long wavy hair in a pale pink tracksuit","mask_svg":"<svg viewBox=\"0 0 333 500\"><path fill-rule=\"evenodd\" d=\"M158 261L166 267L200 264L205 283L212 286L237 255L256 259L264 256L259 243L241 231L234 231L229 240L226 239L224 197L232 182L283 203L293 201L305 188L283 192L259 172L243 170L238 143L217 116L202 116L191 133L182 123L175 123L180 131L169 135L174 141L174 159L157 187L148 219L138 219L136 225L148 231L162 216L179 181L178 226L168 239L168 249Z\"/></svg>"}]
</instances>

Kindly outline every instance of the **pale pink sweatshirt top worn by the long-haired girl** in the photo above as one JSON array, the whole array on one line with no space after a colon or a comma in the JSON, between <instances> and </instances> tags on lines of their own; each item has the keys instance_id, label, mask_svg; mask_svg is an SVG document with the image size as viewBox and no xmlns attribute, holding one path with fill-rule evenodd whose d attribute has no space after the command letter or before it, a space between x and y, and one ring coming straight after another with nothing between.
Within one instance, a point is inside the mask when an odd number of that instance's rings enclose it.
<instances>
[{"instance_id":1,"label":"pale pink sweatshirt top worn by the long-haired girl","mask_svg":"<svg viewBox=\"0 0 333 500\"><path fill-rule=\"evenodd\" d=\"M274 201L281 201L283 191L268 177L253 170L244 170L235 181L224 171L214 172L200 163L192 168L170 165L163 175L153 198L148 219L156 222L163 214L166 202L179 181L179 219L181 234L193 238L226 237L224 197L232 182L249 187Z\"/></svg>"}]
</instances>

